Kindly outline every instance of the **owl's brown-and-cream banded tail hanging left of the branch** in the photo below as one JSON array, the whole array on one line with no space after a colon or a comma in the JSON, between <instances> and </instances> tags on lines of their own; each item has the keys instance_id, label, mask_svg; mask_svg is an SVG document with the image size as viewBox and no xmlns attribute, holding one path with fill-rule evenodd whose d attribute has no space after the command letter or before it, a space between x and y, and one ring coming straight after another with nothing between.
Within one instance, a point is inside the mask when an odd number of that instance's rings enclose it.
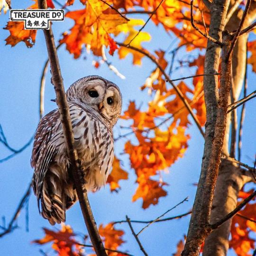
<instances>
[{"instance_id":1,"label":"owl's brown-and-cream banded tail hanging left of the branch","mask_svg":"<svg viewBox=\"0 0 256 256\"><path fill-rule=\"evenodd\" d=\"M63 179L59 172L50 172L44 181L41 196L41 215L48 219L51 225L65 222L66 210L77 201L73 184L68 184L66 181L67 179Z\"/></svg>"}]
</instances>

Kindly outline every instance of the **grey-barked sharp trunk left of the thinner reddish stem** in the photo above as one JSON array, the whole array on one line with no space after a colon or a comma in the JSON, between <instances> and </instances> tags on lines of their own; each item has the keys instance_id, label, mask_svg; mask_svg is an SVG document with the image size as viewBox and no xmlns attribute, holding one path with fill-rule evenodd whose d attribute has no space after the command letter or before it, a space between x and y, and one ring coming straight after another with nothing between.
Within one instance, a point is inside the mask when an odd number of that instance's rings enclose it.
<instances>
[{"instance_id":1,"label":"grey-barked sharp trunk left of the thinner reddish stem","mask_svg":"<svg viewBox=\"0 0 256 256\"><path fill-rule=\"evenodd\" d=\"M209 36L220 42L222 41L222 31L225 26L225 18L229 6L229 0L215 0L210 8L210 30ZM208 40L204 73L217 73L219 69L220 47ZM183 256L197 256L201 243L208 234L206 224L209 221L209 209L211 202L205 201L202 197L205 190L206 175L210 161L212 139L217 117L218 107L218 78L215 76L204 77L204 96L206 103L207 122L205 125L205 144L202 158L201 175L196 192L196 198L192 209L192 217L188 230Z\"/></svg>"}]
</instances>

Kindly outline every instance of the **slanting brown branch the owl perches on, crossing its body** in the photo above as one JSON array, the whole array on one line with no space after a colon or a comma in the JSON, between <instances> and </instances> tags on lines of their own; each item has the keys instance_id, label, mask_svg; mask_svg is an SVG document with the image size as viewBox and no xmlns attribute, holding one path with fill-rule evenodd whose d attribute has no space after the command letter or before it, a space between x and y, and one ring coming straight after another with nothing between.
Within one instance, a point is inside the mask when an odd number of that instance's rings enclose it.
<instances>
[{"instance_id":1,"label":"slanting brown branch the owl perches on, crossing its body","mask_svg":"<svg viewBox=\"0 0 256 256\"><path fill-rule=\"evenodd\" d=\"M38 0L39 9L46 9L46 0ZM61 75L60 64L56 51L54 35L51 28L49 30L44 29L44 35L46 39L46 46L51 66L52 83L54 84L57 105L60 112L61 122L63 126L63 135L65 139L66 152L70 160L71 171L73 175L74 185L79 199L82 215L86 227L88 229L91 243L95 249L97 256L107 256L105 248L103 246L99 231L97 229L96 222L93 218L90 203L88 200L87 192L83 192L82 184L80 182L79 173L80 164L76 149L74 148L74 136L72 130L72 124L70 119L69 105L67 103L66 94L64 90L63 78Z\"/></svg>"}]
</instances>

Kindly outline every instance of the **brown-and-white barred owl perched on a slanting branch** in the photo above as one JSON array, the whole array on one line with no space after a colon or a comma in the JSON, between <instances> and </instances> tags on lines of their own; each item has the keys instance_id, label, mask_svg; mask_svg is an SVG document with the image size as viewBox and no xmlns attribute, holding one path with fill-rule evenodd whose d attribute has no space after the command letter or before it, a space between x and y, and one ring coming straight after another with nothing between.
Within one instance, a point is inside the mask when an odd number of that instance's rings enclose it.
<instances>
[{"instance_id":1,"label":"brown-and-white barred owl perched on a slanting branch","mask_svg":"<svg viewBox=\"0 0 256 256\"><path fill-rule=\"evenodd\" d=\"M121 92L115 83L93 75L74 82L66 97L83 189L99 190L106 183L114 158L112 129L121 114ZM31 166L35 168L33 190L40 214L52 225L64 222L77 194L58 109L38 124Z\"/></svg>"}]
</instances>

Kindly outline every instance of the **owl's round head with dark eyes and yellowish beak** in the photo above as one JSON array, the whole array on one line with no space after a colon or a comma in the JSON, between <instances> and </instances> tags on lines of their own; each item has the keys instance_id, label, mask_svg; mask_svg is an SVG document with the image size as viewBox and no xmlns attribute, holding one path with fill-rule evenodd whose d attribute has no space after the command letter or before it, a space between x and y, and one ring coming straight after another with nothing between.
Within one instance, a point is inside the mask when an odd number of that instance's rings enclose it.
<instances>
[{"instance_id":1,"label":"owl's round head with dark eyes and yellowish beak","mask_svg":"<svg viewBox=\"0 0 256 256\"><path fill-rule=\"evenodd\" d=\"M91 75L74 82L66 91L68 101L89 105L114 126L122 110L122 95L118 86L101 76Z\"/></svg>"}]
</instances>

